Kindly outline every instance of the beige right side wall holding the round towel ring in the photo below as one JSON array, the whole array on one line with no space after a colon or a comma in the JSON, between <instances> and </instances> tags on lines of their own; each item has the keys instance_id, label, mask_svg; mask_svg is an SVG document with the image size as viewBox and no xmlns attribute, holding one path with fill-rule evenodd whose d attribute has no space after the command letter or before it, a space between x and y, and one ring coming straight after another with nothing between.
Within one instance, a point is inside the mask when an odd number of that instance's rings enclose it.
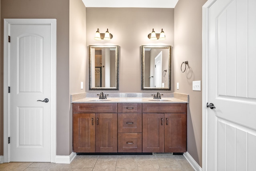
<instances>
[{"instance_id":1,"label":"beige right side wall holding the round towel ring","mask_svg":"<svg viewBox=\"0 0 256 171\"><path fill-rule=\"evenodd\" d=\"M174 9L174 91L189 94L187 151L201 167L202 91L192 91L192 81L202 81L202 6L206 1L179 0ZM189 66L184 73L180 71L183 61Z\"/></svg>"}]
</instances>

